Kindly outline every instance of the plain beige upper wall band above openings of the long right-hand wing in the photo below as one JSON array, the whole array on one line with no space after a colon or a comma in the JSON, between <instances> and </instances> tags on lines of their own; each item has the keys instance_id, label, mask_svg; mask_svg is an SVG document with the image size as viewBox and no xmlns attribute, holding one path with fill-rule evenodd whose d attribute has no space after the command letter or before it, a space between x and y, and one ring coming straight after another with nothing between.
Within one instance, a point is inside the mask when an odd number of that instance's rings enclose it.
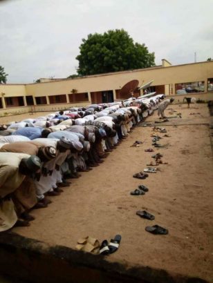
<instances>
[{"instance_id":1,"label":"plain beige upper wall band above openings of the long right-hand wing","mask_svg":"<svg viewBox=\"0 0 213 283\"><path fill-rule=\"evenodd\" d=\"M26 93L28 95L46 96L69 94L72 89L76 89L79 93L117 90L133 79L138 79L139 86L152 79L154 79L152 86L178 84L189 81L206 81L207 83L207 78L212 77L213 61L206 61L178 66L153 67L105 75L93 75L40 84L27 84Z\"/></svg>"}]
</instances>

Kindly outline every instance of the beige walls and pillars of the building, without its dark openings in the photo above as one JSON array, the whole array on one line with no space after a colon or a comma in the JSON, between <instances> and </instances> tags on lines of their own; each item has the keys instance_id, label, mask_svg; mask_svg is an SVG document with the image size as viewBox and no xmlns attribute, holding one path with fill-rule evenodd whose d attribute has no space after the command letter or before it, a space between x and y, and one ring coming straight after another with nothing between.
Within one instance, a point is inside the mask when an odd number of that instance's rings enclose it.
<instances>
[{"instance_id":1,"label":"beige walls and pillars of the building, without its dark openings","mask_svg":"<svg viewBox=\"0 0 213 283\"><path fill-rule=\"evenodd\" d=\"M87 77L79 77L75 79L64 79L62 81L48 81L38 84L0 84L0 97L3 108L0 108L1 114L7 111L13 111L5 108L5 97L23 97L26 105L26 95L32 95L35 108L42 110L55 110L54 108L65 108L67 106L86 105L91 103L102 102L102 91L112 90L114 99L124 99L128 97L120 97L119 90L127 84L128 81L138 79L139 86L146 84L154 79L151 86L156 86L158 93L166 95L175 95L176 84L188 83L192 81L204 81L205 90L202 93L193 95L204 100L213 100L213 92L207 93L207 79L213 78L213 61L205 61L194 64L185 64L171 66L171 64L163 59L162 66L145 68L140 70L128 70L124 72L113 72L103 75L93 75ZM75 97L71 95L73 89L76 90ZM163 91L164 90L164 91ZM83 100L84 93L88 93L88 100ZM79 97L77 95L79 94ZM55 95L64 95L62 106L55 104L52 107L52 98ZM187 96L189 96L187 94ZM42 97L44 105L36 106L35 97ZM50 99L49 99L50 97ZM65 99L66 97L66 99ZM71 104L67 104L69 101ZM56 101L55 101L56 102ZM50 105L50 106L49 106ZM1 107L1 105L0 105ZM27 106L26 106L27 107Z\"/></svg>"}]
</instances>

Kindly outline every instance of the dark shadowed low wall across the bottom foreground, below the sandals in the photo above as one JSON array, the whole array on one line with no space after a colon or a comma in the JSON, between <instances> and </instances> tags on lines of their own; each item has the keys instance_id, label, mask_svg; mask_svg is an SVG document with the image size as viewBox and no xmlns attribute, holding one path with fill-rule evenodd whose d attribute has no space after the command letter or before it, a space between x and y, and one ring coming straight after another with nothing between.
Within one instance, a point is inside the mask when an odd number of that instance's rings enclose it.
<instances>
[{"instance_id":1,"label":"dark shadowed low wall across the bottom foreground, below the sandals","mask_svg":"<svg viewBox=\"0 0 213 283\"><path fill-rule=\"evenodd\" d=\"M125 260L110 262L103 255L50 246L9 231L0 233L0 274L41 283L207 283L149 266L131 266Z\"/></svg>"}]
</instances>

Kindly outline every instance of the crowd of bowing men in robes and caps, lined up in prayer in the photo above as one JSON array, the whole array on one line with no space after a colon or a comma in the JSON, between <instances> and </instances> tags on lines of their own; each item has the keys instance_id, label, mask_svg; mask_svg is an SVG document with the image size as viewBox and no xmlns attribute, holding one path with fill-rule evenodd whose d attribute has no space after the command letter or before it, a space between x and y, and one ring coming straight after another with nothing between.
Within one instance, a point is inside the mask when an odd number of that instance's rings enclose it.
<instances>
[{"instance_id":1,"label":"crowd of bowing men in robes and caps, lined up in prayer","mask_svg":"<svg viewBox=\"0 0 213 283\"><path fill-rule=\"evenodd\" d=\"M147 110L138 102L93 104L0 126L0 231L28 226L30 209L48 206L47 195L59 195L68 178L99 166Z\"/></svg>"}]
</instances>

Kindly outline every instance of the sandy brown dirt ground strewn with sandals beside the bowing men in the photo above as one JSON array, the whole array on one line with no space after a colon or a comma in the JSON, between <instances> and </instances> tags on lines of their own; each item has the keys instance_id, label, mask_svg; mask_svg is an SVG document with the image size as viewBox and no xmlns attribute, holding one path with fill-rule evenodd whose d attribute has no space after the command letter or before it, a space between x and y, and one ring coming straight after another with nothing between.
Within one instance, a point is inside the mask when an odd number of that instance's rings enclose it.
<instances>
[{"instance_id":1,"label":"sandy brown dirt ground strewn with sandals beside the bowing men","mask_svg":"<svg viewBox=\"0 0 213 283\"><path fill-rule=\"evenodd\" d=\"M167 144L167 148L151 146L153 126L134 128L103 164L72 179L64 193L51 197L53 204L48 208L32 211L36 219L29 227L12 231L71 248L80 237L90 235L102 242L120 234L120 248L107 257L109 261L166 269L213 282L210 115L206 104L170 108L180 112L182 118L155 124L166 128L169 137L157 134L163 137L158 143ZM167 117L176 116L169 114L169 109L165 110ZM145 124L154 124L156 119L155 112ZM136 140L143 143L131 147ZM154 148L154 153L145 152L146 148ZM151 156L158 152L168 164L158 166L160 171L149 173L145 180L133 178L154 161ZM147 186L149 192L130 195L139 184ZM138 217L139 210L148 211L156 219ZM169 234L145 231L146 226L154 224L167 228Z\"/></svg>"}]
</instances>

